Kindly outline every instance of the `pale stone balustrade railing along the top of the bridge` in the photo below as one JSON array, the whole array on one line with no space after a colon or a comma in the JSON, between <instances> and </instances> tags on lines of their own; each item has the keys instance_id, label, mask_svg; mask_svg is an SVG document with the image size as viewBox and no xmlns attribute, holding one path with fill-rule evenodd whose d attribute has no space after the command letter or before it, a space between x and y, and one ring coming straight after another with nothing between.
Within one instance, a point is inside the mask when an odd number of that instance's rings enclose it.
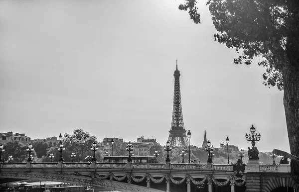
<instances>
[{"instance_id":1,"label":"pale stone balustrade railing along the top of the bridge","mask_svg":"<svg viewBox=\"0 0 299 192\"><path fill-rule=\"evenodd\" d=\"M250 167L251 166L251 167ZM152 170L198 170L198 171L217 171L233 172L232 165L216 164L187 164L187 163L0 163L0 169L44 169L44 168L65 168L65 169L152 169ZM282 165L260 165L247 164L245 172L274 172L291 173L291 167L288 164Z\"/></svg>"}]
</instances>

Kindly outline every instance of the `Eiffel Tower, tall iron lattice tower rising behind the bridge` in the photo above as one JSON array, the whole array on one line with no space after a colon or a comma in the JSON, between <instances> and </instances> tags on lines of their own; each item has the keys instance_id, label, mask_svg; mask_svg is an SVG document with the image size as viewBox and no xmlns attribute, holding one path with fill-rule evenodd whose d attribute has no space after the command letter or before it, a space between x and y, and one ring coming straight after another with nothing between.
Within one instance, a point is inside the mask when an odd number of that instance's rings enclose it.
<instances>
[{"instance_id":1,"label":"Eiffel Tower, tall iron lattice tower rising behind the bridge","mask_svg":"<svg viewBox=\"0 0 299 192\"><path fill-rule=\"evenodd\" d=\"M174 71L174 94L173 94L173 110L172 110L172 121L169 131L168 141L172 146L188 146L188 138L183 121L183 112L180 96L179 76L180 73L177 69Z\"/></svg>"}]
</instances>

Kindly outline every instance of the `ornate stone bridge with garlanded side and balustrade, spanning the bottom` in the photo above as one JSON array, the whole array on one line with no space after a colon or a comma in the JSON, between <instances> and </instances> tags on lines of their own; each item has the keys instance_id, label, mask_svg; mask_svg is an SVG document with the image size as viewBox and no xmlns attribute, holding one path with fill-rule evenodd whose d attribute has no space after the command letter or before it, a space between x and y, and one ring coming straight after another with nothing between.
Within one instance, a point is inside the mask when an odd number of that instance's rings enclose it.
<instances>
[{"instance_id":1,"label":"ornate stone bridge with garlanded side and balustrade, spanning the bottom","mask_svg":"<svg viewBox=\"0 0 299 192\"><path fill-rule=\"evenodd\" d=\"M123 192L272 192L294 188L289 165L173 163L0 163L0 178L57 181ZM288 189L287 189L288 190ZM283 192L283 190L282 190Z\"/></svg>"}]
</instances>

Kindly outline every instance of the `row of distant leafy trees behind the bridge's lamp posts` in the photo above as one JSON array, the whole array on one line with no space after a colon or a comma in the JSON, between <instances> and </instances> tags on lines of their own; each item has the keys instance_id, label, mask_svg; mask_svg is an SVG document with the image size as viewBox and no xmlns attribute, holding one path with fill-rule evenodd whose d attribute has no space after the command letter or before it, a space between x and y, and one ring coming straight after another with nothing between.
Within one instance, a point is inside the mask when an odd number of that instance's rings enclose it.
<instances>
[{"instance_id":1,"label":"row of distant leafy trees behind the bridge's lamp posts","mask_svg":"<svg viewBox=\"0 0 299 192\"><path fill-rule=\"evenodd\" d=\"M84 162L88 160L86 157L93 156L93 152L91 151L92 143L96 142L99 146L100 143L97 141L95 136L91 136L88 132L82 129L76 129L72 134L64 134L64 147L65 151L62 153L63 159L65 162L72 162L71 154L75 152L74 161L75 162ZM32 141L32 146L34 151L33 161L35 162L50 162L50 154L54 154L53 162L58 162L59 160L59 141L57 142L46 142L46 140L37 140ZM114 142L114 156L127 156L128 152L126 150L127 144L122 140L115 139ZM2 154L2 158L4 160L8 159L8 156L12 155L14 158L14 162L25 162L28 158L28 153L26 152L27 146L20 143L19 141L11 141L5 145L5 151ZM180 156L180 152L183 147L177 147L172 149L169 152L169 158L173 163L182 162L182 157ZM134 149L135 150L135 149ZM149 154L153 155L154 151L157 150L159 156L157 157L158 162L165 162L167 152L164 151L161 145L153 145L149 149ZM188 153L188 148L184 149L186 153ZM102 161L104 154L106 151L101 150L101 148L95 153L96 159L98 161ZM133 151L135 154L136 152ZM111 153L111 152L110 152ZM229 149L229 159L230 162L236 163L239 159L238 151L232 151ZM215 164L227 164L227 149L226 148L215 148L214 149L215 156L212 158ZM273 160L266 153L260 153L260 160L264 164L270 163L272 164ZM188 154L184 157L184 161L188 162ZM190 146L190 159L197 160L200 163L206 163L208 159L208 153L196 146ZM243 158L244 162L248 161L248 155L246 154ZM278 161L278 159L276 160Z\"/></svg>"}]
</instances>

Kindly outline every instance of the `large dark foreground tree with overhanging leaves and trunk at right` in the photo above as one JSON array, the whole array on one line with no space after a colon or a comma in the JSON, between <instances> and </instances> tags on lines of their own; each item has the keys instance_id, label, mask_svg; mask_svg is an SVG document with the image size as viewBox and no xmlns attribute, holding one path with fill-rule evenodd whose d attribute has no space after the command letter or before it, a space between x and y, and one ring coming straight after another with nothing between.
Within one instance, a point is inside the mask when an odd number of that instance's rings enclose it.
<instances>
[{"instance_id":1,"label":"large dark foreground tree with overhanging leaves and trunk at right","mask_svg":"<svg viewBox=\"0 0 299 192\"><path fill-rule=\"evenodd\" d=\"M207 0L218 33L215 41L235 49L234 63L250 65L254 57L266 67L264 84L284 90L284 106L291 153L299 157L299 0ZM196 0L186 0L180 10L200 23ZM297 175L299 162L292 161Z\"/></svg>"}]
</instances>

